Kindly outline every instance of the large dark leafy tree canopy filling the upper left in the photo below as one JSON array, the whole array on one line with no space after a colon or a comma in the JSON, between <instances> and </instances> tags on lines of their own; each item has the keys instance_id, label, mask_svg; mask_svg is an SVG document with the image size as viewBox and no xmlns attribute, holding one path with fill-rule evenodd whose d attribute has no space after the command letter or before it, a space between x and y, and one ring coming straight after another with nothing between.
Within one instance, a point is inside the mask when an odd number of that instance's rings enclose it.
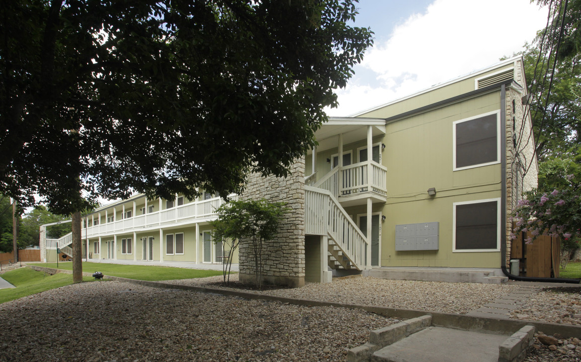
<instances>
[{"instance_id":1,"label":"large dark leafy tree canopy filling the upper left","mask_svg":"<svg viewBox=\"0 0 581 362\"><path fill-rule=\"evenodd\" d=\"M286 175L371 45L354 1L1 1L0 192L71 213Z\"/></svg>"}]
</instances>

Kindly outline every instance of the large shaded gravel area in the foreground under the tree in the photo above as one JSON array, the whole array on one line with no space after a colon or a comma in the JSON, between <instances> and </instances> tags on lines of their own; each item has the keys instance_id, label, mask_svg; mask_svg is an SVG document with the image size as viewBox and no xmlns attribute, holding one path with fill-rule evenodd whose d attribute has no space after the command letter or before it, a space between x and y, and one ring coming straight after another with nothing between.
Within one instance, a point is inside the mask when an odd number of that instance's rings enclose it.
<instances>
[{"instance_id":1,"label":"large shaded gravel area in the foreground under the tree","mask_svg":"<svg viewBox=\"0 0 581 362\"><path fill-rule=\"evenodd\" d=\"M101 281L0 305L0 361L339 361L393 318Z\"/></svg>"}]
</instances>

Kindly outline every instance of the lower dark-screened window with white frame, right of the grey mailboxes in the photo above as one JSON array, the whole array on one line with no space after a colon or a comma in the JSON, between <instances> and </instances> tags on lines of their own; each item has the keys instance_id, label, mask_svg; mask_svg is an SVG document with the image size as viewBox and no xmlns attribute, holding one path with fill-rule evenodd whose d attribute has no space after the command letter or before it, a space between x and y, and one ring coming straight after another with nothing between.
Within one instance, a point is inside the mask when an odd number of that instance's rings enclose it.
<instances>
[{"instance_id":1,"label":"lower dark-screened window with white frame, right of the grey mailboxes","mask_svg":"<svg viewBox=\"0 0 581 362\"><path fill-rule=\"evenodd\" d=\"M500 198L454 203L455 252L500 251Z\"/></svg>"}]
</instances>

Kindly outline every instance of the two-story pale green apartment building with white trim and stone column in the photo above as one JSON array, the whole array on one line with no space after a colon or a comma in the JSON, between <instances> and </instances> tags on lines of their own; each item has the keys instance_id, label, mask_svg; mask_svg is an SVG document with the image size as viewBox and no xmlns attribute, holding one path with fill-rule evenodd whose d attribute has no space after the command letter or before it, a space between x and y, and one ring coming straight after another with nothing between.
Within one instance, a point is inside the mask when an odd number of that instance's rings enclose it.
<instances>
[{"instance_id":1,"label":"two-story pale green apartment building with white trim and stone column","mask_svg":"<svg viewBox=\"0 0 581 362\"><path fill-rule=\"evenodd\" d=\"M523 190L536 186L526 96L523 60L514 57L331 118L290 178L251 175L240 196L292 205L266 246L265 279L298 286L332 273L500 276L510 255L510 213ZM220 202L135 196L107 205L88 215L85 248L92 258L217 262L220 247L207 222ZM239 262L241 279L250 278L248 249L241 247Z\"/></svg>"}]
</instances>

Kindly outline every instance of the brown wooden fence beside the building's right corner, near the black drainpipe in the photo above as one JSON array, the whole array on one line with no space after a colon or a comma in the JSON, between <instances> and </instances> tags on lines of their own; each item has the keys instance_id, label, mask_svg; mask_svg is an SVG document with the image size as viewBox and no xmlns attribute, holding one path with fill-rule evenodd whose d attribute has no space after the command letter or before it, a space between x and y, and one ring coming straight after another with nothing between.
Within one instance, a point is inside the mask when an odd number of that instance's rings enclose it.
<instances>
[{"instance_id":1,"label":"brown wooden fence beside the building's right corner, near the black drainpipe","mask_svg":"<svg viewBox=\"0 0 581 362\"><path fill-rule=\"evenodd\" d=\"M519 275L558 278L561 262L560 238L540 235L532 244L526 244L527 237L527 233L522 232L512 241L510 258L519 260Z\"/></svg>"}]
</instances>

